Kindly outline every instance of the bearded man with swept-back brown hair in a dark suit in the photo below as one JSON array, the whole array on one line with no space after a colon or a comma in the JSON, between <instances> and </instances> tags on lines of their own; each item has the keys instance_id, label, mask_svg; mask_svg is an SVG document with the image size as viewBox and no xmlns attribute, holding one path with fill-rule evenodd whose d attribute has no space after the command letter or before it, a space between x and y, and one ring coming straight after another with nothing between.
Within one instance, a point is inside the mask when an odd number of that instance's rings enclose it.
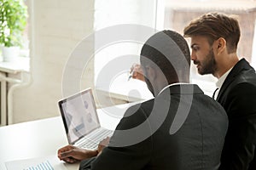
<instances>
[{"instance_id":1,"label":"bearded man with swept-back brown hair in a dark suit","mask_svg":"<svg viewBox=\"0 0 256 170\"><path fill-rule=\"evenodd\" d=\"M256 74L246 59L238 58L240 28L226 14L204 14L184 28L191 37L191 59L200 74L218 78L214 97L229 117L221 167L256 169Z\"/></svg>"}]
</instances>

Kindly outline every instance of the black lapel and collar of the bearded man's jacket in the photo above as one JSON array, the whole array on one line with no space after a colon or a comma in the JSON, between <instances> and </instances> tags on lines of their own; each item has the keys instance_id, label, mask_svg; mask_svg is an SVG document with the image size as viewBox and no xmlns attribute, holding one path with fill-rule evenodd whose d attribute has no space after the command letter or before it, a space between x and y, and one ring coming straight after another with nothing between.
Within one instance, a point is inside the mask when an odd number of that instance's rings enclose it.
<instances>
[{"instance_id":1,"label":"black lapel and collar of the bearded man's jacket","mask_svg":"<svg viewBox=\"0 0 256 170\"><path fill-rule=\"evenodd\" d=\"M233 69L230 71L230 74L228 77L225 79L222 87L220 88L220 91L218 93L217 101L220 101L222 98L226 88L229 87L230 83L233 82L236 79L236 76L243 70L249 70L253 69L248 62L245 59L240 59L238 63L233 67Z\"/></svg>"}]
</instances>

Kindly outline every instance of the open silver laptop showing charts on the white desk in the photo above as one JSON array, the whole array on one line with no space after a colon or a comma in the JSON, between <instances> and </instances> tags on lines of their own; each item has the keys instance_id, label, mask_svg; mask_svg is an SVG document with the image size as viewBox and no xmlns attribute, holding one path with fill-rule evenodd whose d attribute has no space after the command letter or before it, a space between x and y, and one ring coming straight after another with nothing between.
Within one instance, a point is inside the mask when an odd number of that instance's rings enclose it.
<instances>
[{"instance_id":1,"label":"open silver laptop showing charts on the white desk","mask_svg":"<svg viewBox=\"0 0 256 170\"><path fill-rule=\"evenodd\" d=\"M102 139L113 131L101 126L91 88L73 94L58 102L67 140L87 150L96 150Z\"/></svg>"}]
</instances>

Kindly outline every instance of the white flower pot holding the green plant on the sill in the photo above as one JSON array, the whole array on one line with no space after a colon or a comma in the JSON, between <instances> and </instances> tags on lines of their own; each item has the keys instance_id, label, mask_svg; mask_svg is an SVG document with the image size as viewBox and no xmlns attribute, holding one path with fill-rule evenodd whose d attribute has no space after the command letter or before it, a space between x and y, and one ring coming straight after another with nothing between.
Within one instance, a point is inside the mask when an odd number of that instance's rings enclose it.
<instances>
[{"instance_id":1,"label":"white flower pot holding the green plant on the sill","mask_svg":"<svg viewBox=\"0 0 256 170\"><path fill-rule=\"evenodd\" d=\"M19 47L2 47L3 62L14 62L19 52Z\"/></svg>"}]
</instances>

